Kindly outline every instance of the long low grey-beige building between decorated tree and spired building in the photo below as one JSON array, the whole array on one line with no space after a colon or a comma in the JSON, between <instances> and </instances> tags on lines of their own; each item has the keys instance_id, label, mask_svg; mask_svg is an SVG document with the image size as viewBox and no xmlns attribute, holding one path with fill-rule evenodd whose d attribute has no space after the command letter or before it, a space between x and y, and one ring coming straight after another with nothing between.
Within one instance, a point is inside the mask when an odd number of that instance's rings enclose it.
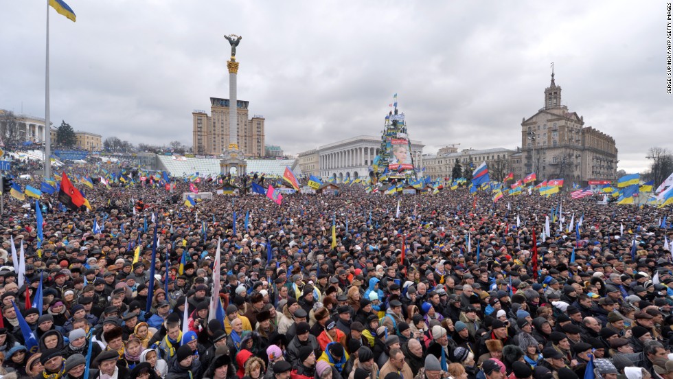
<instances>
[{"instance_id":1,"label":"long low grey-beige building between decorated tree and spired building","mask_svg":"<svg viewBox=\"0 0 673 379\"><path fill-rule=\"evenodd\" d=\"M430 176L433 180L440 179L450 181L453 167L458 162L461 170L474 170L482 162L488 165L490 179L501 181L504 176L510 172L510 155L514 150L505 148L492 149L464 149L458 151L455 146L447 146L437 151L437 154L426 154L423 156L425 166L425 176Z\"/></svg>"}]
</instances>

